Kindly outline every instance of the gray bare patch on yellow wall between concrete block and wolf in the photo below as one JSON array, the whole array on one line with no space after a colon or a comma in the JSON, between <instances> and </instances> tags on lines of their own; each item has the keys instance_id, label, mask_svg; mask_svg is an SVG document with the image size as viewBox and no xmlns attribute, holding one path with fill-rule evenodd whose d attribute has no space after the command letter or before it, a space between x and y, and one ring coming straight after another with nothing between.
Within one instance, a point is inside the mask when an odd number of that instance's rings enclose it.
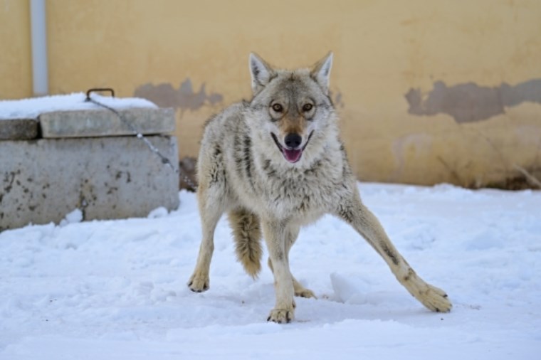
<instances>
[{"instance_id":1,"label":"gray bare patch on yellow wall between concrete block and wolf","mask_svg":"<svg viewBox=\"0 0 541 360\"><path fill-rule=\"evenodd\" d=\"M134 95L150 100L159 107L174 107L180 109L181 112L198 110L206 103L216 105L224 99L221 94L216 92L207 95L204 83L201 84L197 92L194 92L189 78L184 80L178 89L173 88L169 83L141 85L135 89Z\"/></svg>"}]
</instances>

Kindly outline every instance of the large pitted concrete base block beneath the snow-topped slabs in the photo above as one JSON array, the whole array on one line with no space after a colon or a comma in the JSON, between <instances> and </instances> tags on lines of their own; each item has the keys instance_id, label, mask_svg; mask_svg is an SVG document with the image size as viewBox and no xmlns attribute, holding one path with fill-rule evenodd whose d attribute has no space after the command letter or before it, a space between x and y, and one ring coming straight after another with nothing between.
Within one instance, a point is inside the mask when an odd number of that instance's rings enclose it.
<instances>
[{"instance_id":1,"label":"large pitted concrete base block beneath the snow-topped slabs","mask_svg":"<svg viewBox=\"0 0 541 360\"><path fill-rule=\"evenodd\" d=\"M148 139L178 166L177 141ZM0 142L0 231L60 222L145 217L179 206L179 177L137 137Z\"/></svg>"}]
</instances>

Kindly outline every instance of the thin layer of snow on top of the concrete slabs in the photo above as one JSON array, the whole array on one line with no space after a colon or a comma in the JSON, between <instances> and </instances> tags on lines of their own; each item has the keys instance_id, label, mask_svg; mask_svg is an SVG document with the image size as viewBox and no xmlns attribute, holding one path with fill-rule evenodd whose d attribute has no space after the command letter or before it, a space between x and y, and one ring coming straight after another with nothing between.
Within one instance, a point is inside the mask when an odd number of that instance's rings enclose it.
<instances>
[{"instance_id":1,"label":"thin layer of snow on top of the concrete slabs","mask_svg":"<svg viewBox=\"0 0 541 360\"><path fill-rule=\"evenodd\" d=\"M157 107L154 103L138 97L109 97L96 93L90 94L93 100L115 109L127 107ZM0 120L35 119L44 112L67 110L103 110L93 102L86 100L86 94L75 92L70 95L51 95L23 100L1 100Z\"/></svg>"}]
</instances>

